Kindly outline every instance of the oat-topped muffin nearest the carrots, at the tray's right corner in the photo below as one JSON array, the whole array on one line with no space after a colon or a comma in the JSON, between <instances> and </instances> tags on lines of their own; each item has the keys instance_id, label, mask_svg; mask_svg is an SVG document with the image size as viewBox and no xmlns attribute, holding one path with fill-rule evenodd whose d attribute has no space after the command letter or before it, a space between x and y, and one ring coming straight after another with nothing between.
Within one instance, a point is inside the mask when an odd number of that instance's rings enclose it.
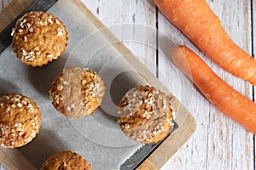
<instances>
[{"instance_id":1,"label":"oat-topped muffin nearest the carrots, at the tray's right corner","mask_svg":"<svg viewBox=\"0 0 256 170\"><path fill-rule=\"evenodd\" d=\"M119 103L119 127L138 143L157 143L165 139L173 127L172 119L168 97L154 87L132 88Z\"/></svg>"}]
</instances>

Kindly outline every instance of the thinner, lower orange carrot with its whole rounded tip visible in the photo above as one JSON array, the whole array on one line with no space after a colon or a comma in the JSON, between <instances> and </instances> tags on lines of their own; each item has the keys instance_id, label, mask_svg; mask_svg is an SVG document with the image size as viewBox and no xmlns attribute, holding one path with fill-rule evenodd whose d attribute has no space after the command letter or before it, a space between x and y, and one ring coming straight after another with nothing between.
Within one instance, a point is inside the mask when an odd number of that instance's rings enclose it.
<instances>
[{"instance_id":1,"label":"thinner, lower orange carrot with its whole rounded tip visible","mask_svg":"<svg viewBox=\"0 0 256 170\"><path fill-rule=\"evenodd\" d=\"M218 77L193 51L184 46L172 50L172 62L189 77L218 111L256 134L256 104Z\"/></svg>"}]
</instances>

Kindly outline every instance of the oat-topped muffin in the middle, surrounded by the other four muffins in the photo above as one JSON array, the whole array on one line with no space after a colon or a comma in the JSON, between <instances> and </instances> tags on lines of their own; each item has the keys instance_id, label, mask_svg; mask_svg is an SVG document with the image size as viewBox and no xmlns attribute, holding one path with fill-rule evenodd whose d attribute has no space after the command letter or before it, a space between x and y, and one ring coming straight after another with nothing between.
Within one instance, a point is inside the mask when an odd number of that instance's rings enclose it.
<instances>
[{"instance_id":1,"label":"oat-topped muffin in the middle, surrounded by the other four muffins","mask_svg":"<svg viewBox=\"0 0 256 170\"><path fill-rule=\"evenodd\" d=\"M63 69L49 90L49 99L57 111L69 117L93 114L102 103L105 86L96 71L87 68Z\"/></svg>"}]
</instances>

